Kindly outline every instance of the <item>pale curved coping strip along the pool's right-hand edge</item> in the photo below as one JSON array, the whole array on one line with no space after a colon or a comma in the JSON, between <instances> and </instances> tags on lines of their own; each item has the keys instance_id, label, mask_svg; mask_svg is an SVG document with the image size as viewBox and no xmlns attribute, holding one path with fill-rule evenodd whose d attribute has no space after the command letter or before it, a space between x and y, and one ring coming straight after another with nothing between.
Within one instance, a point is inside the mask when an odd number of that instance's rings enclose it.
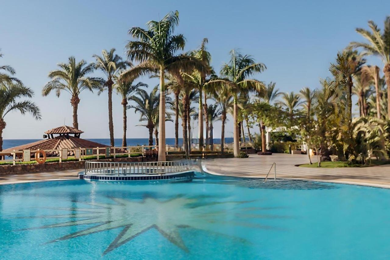
<instances>
[{"instance_id":1,"label":"pale curved coping strip along the pool's right-hand edge","mask_svg":"<svg viewBox=\"0 0 390 260\"><path fill-rule=\"evenodd\" d=\"M206 168L205 165L202 164L202 171L205 173L215 175L215 176L230 176L236 178L257 178L264 179L264 177L258 176L238 176L238 175L224 175L222 173L217 173L215 171L211 171ZM379 183L371 183L371 182L350 182L350 181L340 181L340 180L323 180L323 179L309 179L309 178L277 178L280 180L307 180L313 182L326 182L326 183L337 183L337 184L347 184L347 185L357 185L357 186L365 186L365 187L374 187L374 188L382 188L382 189L390 189L390 185L379 184Z\"/></svg>"}]
</instances>

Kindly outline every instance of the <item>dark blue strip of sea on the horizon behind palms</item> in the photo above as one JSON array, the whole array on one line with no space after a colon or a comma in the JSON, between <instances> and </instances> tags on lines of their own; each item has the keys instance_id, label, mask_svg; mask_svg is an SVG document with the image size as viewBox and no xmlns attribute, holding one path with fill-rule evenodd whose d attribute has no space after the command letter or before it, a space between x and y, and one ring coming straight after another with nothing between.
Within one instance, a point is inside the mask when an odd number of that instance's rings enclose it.
<instances>
[{"instance_id":1,"label":"dark blue strip of sea on the horizon behind palms","mask_svg":"<svg viewBox=\"0 0 390 260\"><path fill-rule=\"evenodd\" d=\"M107 146L110 145L110 139L109 138L94 138L94 139L89 139L85 138L86 140L92 141L92 142L98 142L100 144L105 144ZM20 146L23 144L28 144L30 142L36 142L42 139L4 139L3 140L3 150L15 146ZM149 139L148 138L128 138L127 140L127 145L128 146L137 146L137 145L148 145ZM122 146L122 138L115 138L115 146ZM153 139L153 144L154 144L154 139ZM175 145L175 138L166 138L165 142L167 145ZM198 143L198 139L192 139L192 142L194 144ZM227 137L225 138L225 143L231 143L233 142L232 137ZM214 139L214 144L220 144L221 139L216 138ZM183 139L179 138L179 145L183 144Z\"/></svg>"}]
</instances>

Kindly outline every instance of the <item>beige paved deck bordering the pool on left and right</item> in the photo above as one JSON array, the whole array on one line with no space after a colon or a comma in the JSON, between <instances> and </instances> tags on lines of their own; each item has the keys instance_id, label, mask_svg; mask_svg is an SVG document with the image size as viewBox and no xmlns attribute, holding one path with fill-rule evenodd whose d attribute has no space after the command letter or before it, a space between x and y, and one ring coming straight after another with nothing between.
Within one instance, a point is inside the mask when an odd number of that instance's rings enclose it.
<instances>
[{"instance_id":1,"label":"beige paved deck bordering the pool on left and right","mask_svg":"<svg viewBox=\"0 0 390 260\"><path fill-rule=\"evenodd\" d=\"M312 158L316 162L316 158ZM277 178L316 180L347 183L381 188L390 188L390 164L363 168L306 168L296 164L308 163L307 155L250 155L249 158L221 158L203 161L205 171L215 175L246 178L265 178L273 162L276 163ZM78 179L83 169L1 175L0 185L26 182ZM273 178L274 170L268 178Z\"/></svg>"}]
</instances>

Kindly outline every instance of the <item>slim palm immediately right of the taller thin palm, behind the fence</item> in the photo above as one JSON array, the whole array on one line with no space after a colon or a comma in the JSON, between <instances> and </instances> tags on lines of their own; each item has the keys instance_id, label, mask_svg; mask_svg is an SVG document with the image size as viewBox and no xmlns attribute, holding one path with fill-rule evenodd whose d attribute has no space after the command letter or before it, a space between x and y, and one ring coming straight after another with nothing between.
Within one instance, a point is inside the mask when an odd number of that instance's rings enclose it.
<instances>
[{"instance_id":1,"label":"slim palm immediately right of the taller thin palm, behind the fence","mask_svg":"<svg viewBox=\"0 0 390 260\"><path fill-rule=\"evenodd\" d=\"M121 96L122 102L121 105L123 106L123 137L122 137L122 146L127 146L126 141L126 131L127 131L127 105L128 100L130 100L130 97L140 88L140 87L148 87L147 84L144 84L142 82L138 82L137 84L133 85L132 80L121 80L120 78L116 78L115 85L113 85L114 89L116 90L117 94Z\"/></svg>"}]
</instances>

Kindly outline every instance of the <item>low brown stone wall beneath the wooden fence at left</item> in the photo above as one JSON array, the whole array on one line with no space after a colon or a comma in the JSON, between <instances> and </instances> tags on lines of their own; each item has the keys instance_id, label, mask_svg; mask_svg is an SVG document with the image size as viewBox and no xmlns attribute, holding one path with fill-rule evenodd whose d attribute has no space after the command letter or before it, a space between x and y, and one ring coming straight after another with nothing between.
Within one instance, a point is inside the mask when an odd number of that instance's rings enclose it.
<instances>
[{"instance_id":1,"label":"low brown stone wall beneath the wooden fence at left","mask_svg":"<svg viewBox=\"0 0 390 260\"><path fill-rule=\"evenodd\" d=\"M144 158L142 157L123 157L115 159L101 159L99 162L151 162L156 161L156 158ZM37 173L43 171L60 171L71 169L83 169L85 161L72 161L72 162L45 162L44 164L16 164L16 165L0 165L0 175L5 174L18 174L18 173Z\"/></svg>"}]
</instances>

